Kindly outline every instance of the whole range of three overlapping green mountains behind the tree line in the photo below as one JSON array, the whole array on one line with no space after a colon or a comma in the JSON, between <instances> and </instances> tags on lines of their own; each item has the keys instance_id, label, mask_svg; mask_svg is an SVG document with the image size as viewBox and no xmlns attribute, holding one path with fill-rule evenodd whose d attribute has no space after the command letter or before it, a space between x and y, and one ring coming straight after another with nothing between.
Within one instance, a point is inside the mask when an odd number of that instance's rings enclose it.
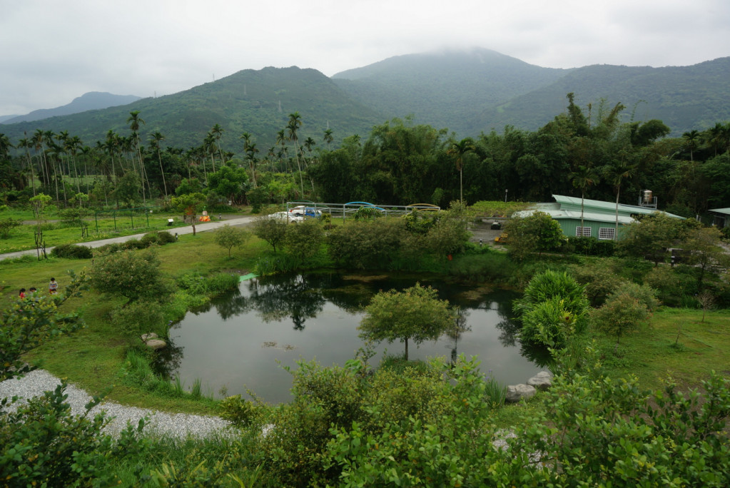
<instances>
[{"instance_id":1,"label":"whole range of three overlapping green mountains behind the tree line","mask_svg":"<svg viewBox=\"0 0 730 488\"><path fill-rule=\"evenodd\" d=\"M730 120L730 58L694 66L593 65L550 69L524 63L486 49L442 51L388 58L328 78L315 69L245 69L189 90L131 104L91 109L72 115L12 123L2 131L13 141L36 129L69 131L85 144L104 139L107 131L130 133L129 112L145 120L140 137L155 131L164 146L196 147L213 125L223 128L225 150L241 152L240 136L248 132L261 152L277 142L288 115L299 112L299 137L323 146L323 132L334 143L373 125L412 115L456 132L477 136L505 125L535 130L564 112L566 93L575 93L586 115L597 117L601 106L626 106L624 120L660 119L672 135ZM87 94L90 95L90 94ZM86 96L77 98L72 104ZM69 104L69 105L72 105ZM588 110L588 105L591 110ZM59 107L61 109L63 107ZM37 112L43 111L35 111ZM590 114L589 114L590 112Z\"/></svg>"}]
</instances>

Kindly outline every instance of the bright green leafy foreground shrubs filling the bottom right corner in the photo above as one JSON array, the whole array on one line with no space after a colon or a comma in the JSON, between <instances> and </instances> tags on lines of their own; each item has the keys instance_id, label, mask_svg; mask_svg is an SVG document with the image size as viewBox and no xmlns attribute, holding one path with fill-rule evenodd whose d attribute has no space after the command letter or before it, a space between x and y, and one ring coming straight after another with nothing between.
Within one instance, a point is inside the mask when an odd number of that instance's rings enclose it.
<instances>
[{"instance_id":1,"label":"bright green leafy foreground shrubs filling the bottom right corner","mask_svg":"<svg viewBox=\"0 0 730 488\"><path fill-rule=\"evenodd\" d=\"M583 355L596 360L590 350ZM462 373L455 392L478 391L464 376L476 375ZM334 427L323 468L331 486L725 487L730 382L713 375L703 388L706 395L675 384L645 392L633 376L573 370L538 395L514 436L489 427L474 395L455 395L458 404L438 423ZM497 439L507 447L495 449Z\"/></svg>"}]
</instances>

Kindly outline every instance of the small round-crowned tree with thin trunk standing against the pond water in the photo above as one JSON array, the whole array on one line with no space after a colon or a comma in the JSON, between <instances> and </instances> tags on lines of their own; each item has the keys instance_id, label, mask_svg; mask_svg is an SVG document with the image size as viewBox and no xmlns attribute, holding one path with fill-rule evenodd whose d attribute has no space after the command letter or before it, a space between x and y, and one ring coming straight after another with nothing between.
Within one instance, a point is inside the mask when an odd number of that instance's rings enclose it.
<instances>
[{"instance_id":1,"label":"small round-crowned tree with thin trunk standing against the pond water","mask_svg":"<svg viewBox=\"0 0 730 488\"><path fill-rule=\"evenodd\" d=\"M360 336L372 341L403 341L408 360L408 341L415 344L435 341L456 328L456 310L445 300L439 300L431 287L414 287L402 292L380 292L366 307L360 322Z\"/></svg>"}]
</instances>

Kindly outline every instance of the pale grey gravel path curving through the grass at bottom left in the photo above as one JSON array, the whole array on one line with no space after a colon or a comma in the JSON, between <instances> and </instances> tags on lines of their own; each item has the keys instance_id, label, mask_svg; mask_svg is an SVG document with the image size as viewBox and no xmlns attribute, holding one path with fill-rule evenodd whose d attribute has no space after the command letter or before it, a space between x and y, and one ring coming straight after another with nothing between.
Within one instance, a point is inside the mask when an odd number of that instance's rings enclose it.
<instances>
[{"instance_id":1,"label":"pale grey gravel path curving through the grass at bottom left","mask_svg":"<svg viewBox=\"0 0 730 488\"><path fill-rule=\"evenodd\" d=\"M26 374L21 379L8 379L0 383L0 398L33 398L43 395L45 391L53 391L61 384L61 380L45 370L37 369ZM85 404L91 400L84 390L80 390L69 384L66 387L66 402L71 406L73 414L83 414ZM203 415L191 414L168 414L166 412L123 406L112 401L104 401L93 408L92 414L105 411L109 417L115 417L107 427L107 432L118 433L123 430L127 422L135 427L142 417L148 417L149 423L145 425L145 432L172 435L177 438L210 437L219 433L225 433L230 424L220 417L205 417Z\"/></svg>"}]
</instances>

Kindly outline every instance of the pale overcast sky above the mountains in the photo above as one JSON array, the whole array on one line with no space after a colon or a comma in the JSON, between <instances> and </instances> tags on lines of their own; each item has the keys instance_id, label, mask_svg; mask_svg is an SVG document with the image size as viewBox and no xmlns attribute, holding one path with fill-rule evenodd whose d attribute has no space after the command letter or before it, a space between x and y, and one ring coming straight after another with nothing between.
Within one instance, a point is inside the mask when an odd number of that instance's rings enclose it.
<instances>
[{"instance_id":1,"label":"pale overcast sky above the mountains","mask_svg":"<svg viewBox=\"0 0 730 488\"><path fill-rule=\"evenodd\" d=\"M729 0L0 0L0 115L484 47L551 68L730 55Z\"/></svg>"}]
</instances>

